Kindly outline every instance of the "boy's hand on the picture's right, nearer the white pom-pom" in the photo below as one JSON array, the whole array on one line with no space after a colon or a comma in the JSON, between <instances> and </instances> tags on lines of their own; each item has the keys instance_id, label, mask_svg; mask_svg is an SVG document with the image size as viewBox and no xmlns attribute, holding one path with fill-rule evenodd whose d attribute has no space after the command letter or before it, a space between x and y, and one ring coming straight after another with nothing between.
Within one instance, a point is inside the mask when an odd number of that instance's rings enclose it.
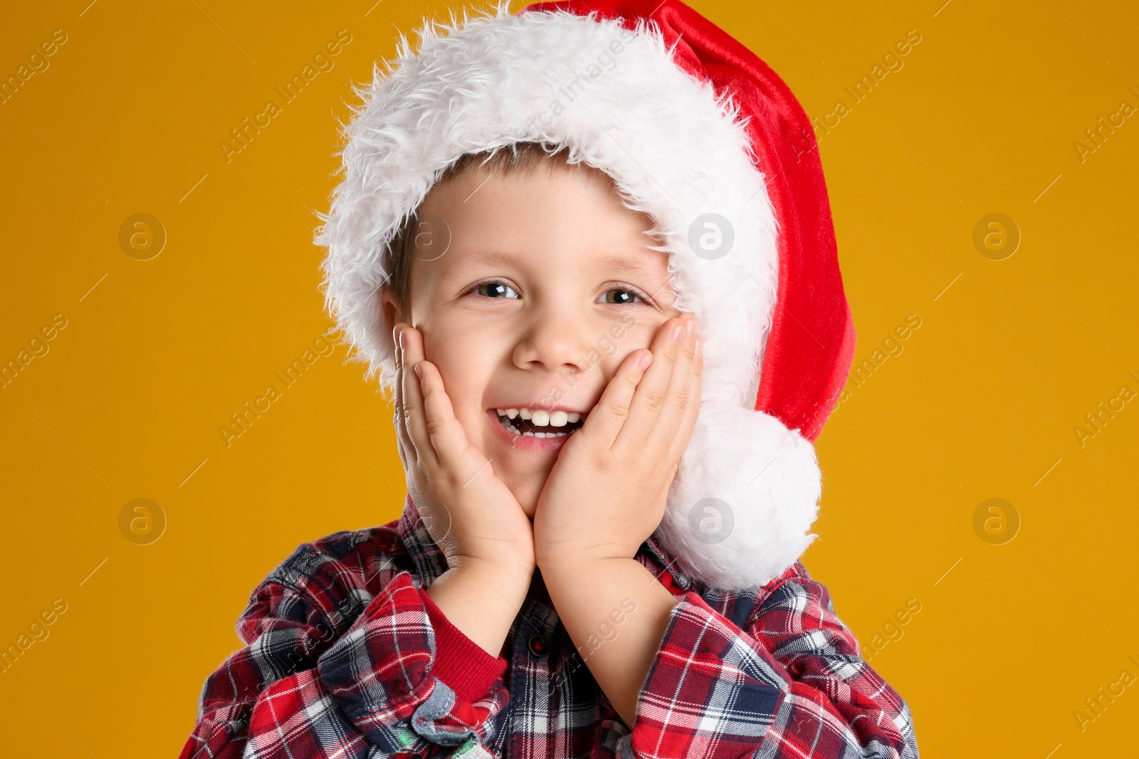
<instances>
[{"instance_id":1,"label":"boy's hand on the picture's right, nearer the white pom-pom","mask_svg":"<svg viewBox=\"0 0 1139 759\"><path fill-rule=\"evenodd\" d=\"M539 567L631 559L661 523L699 413L704 358L695 324L690 314L670 319L652 349L625 356L562 446L534 512ZM645 357L652 363L641 369Z\"/></svg>"}]
</instances>

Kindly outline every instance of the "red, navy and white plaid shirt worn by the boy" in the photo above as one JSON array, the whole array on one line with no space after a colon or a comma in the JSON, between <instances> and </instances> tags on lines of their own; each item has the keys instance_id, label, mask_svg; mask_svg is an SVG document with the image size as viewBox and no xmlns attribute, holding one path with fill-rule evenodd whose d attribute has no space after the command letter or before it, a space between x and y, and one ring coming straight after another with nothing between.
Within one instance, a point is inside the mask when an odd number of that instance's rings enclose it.
<instances>
[{"instance_id":1,"label":"red, navy and white plaid shirt worn by the boy","mask_svg":"<svg viewBox=\"0 0 1139 759\"><path fill-rule=\"evenodd\" d=\"M910 711L796 563L727 592L653 538L637 560L675 597L632 729L574 649L534 572L498 658L425 588L445 559L400 519L301 545L254 589L246 646L210 676L180 759L354 757L895 757Z\"/></svg>"}]
</instances>

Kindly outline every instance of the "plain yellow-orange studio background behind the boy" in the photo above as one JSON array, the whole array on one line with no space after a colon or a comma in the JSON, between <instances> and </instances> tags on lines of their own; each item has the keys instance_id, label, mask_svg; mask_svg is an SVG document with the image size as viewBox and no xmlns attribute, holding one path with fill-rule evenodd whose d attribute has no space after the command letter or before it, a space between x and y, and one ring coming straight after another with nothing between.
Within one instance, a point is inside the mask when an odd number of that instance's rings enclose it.
<instances>
[{"instance_id":1,"label":"plain yellow-orange studio background behind the boy","mask_svg":"<svg viewBox=\"0 0 1139 759\"><path fill-rule=\"evenodd\" d=\"M0 389L0 645L67 604L0 674L0 734L7 756L174 756L257 581L297 544L402 504L391 410L343 346L230 447L219 428L329 329L311 238L350 82L446 7L88 2L17 3L0 30L3 77L67 34L0 105L0 360L67 320ZM1082 731L1074 712L1139 677L1139 401L1083 446L1074 428L1139 391L1139 119L1083 162L1073 143L1139 106L1139 13L942 2L694 3L814 117L921 35L820 142L857 361L908 314L921 327L818 442L804 563L863 645L921 604L871 665L909 702L923 756L1133 752L1139 685ZM227 163L230 130L342 28L335 67ZM137 213L169 236L150 261L118 245ZM1003 261L973 244L990 213L1022 234ZM137 497L167 520L151 545L120 531ZM991 497L1022 522L1003 545L974 530Z\"/></svg>"}]
</instances>

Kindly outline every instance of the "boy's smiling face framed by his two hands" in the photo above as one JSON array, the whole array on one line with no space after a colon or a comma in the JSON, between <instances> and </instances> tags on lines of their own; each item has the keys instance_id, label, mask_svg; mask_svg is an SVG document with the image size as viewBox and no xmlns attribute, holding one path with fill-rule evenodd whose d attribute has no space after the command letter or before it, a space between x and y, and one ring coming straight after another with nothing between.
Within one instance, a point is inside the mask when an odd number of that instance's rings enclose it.
<instances>
[{"instance_id":1,"label":"boy's smiling face framed by his two hands","mask_svg":"<svg viewBox=\"0 0 1139 759\"><path fill-rule=\"evenodd\" d=\"M588 167L462 172L432 188L419 218L410 310L384 291L388 332L423 332L467 439L533 518L567 438L516 436L495 410L592 410L622 360L679 314L667 256Z\"/></svg>"}]
</instances>

